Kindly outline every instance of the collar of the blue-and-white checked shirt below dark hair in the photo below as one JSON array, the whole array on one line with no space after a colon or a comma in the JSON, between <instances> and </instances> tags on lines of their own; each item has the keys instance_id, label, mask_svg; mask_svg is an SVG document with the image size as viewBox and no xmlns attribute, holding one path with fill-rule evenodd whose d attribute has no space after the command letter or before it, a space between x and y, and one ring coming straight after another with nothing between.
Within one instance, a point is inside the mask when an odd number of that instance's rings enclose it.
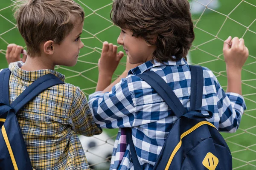
<instances>
[{"instance_id":1,"label":"collar of the blue-and-white checked shirt below dark hair","mask_svg":"<svg viewBox=\"0 0 256 170\"><path fill-rule=\"evenodd\" d=\"M147 61L147 62L144 62L143 64L135 67L135 68L132 68L128 74L134 74L134 75L138 75L138 74L141 74L151 68L154 68L154 67L158 67L158 66L161 66L161 65L164 65L164 66L167 66L167 65L187 65L187 62L184 58L181 58L180 60L178 61L171 61L169 60L168 62L157 62L156 60L150 60L150 61Z\"/></svg>"}]
</instances>

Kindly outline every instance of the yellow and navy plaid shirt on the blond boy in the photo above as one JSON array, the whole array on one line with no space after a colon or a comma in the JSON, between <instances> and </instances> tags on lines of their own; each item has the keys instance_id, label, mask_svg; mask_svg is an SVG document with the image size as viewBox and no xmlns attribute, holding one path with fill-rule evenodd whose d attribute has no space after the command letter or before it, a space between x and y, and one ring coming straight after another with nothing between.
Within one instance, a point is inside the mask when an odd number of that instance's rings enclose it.
<instances>
[{"instance_id":1,"label":"yellow and navy plaid shirt on the blond boy","mask_svg":"<svg viewBox=\"0 0 256 170\"><path fill-rule=\"evenodd\" d=\"M9 65L9 100L12 103L32 82L53 70L24 71L22 62ZM84 93L74 85L48 88L17 113L32 167L36 170L89 170L76 134L93 136L102 129L93 122Z\"/></svg>"}]
</instances>

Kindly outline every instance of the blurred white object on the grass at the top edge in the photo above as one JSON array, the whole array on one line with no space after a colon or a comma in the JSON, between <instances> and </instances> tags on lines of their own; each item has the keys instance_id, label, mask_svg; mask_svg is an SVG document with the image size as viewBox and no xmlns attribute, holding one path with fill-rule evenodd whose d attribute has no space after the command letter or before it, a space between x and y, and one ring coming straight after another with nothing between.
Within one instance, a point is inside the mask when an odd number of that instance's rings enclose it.
<instances>
[{"instance_id":1,"label":"blurred white object on the grass at the top edge","mask_svg":"<svg viewBox=\"0 0 256 170\"><path fill-rule=\"evenodd\" d=\"M192 0L189 3L191 7L190 11L192 14L201 14L208 3L209 3L208 7L211 9L217 9L220 6L220 3L218 0Z\"/></svg>"}]
</instances>

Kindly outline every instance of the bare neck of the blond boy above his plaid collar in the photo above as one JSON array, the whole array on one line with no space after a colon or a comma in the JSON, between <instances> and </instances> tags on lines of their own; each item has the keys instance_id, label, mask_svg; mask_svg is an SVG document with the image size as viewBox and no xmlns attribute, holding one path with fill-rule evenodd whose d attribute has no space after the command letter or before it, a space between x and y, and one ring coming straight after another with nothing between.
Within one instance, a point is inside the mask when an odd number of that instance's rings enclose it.
<instances>
[{"instance_id":1,"label":"bare neck of the blond boy above his plaid collar","mask_svg":"<svg viewBox=\"0 0 256 170\"><path fill-rule=\"evenodd\" d=\"M26 71L37 71L50 69L54 70L55 65L51 61L47 61L45 57L27 57L26 62L23 64L21 69Z\"/></svg>"}]
</instances>

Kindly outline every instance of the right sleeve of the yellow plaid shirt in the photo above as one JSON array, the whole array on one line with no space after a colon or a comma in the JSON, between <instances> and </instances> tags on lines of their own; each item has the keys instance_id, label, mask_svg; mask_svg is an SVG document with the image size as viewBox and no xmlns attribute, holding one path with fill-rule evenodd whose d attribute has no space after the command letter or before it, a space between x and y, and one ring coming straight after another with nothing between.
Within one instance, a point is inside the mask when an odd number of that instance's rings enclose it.
<instances>
[{"instance_id":1,"label":"right sleeve of the yellow plaid shirt","mask_svg":"<svg viewBox=\"0 0 256 170\"><path fill-rule=\"evenodd\" d=\"M102 133L102 129L93 121L87 98L80 88L74 91L70 119L71 127L77 134L93 136Z\"/></svg>"}]
</instances>

